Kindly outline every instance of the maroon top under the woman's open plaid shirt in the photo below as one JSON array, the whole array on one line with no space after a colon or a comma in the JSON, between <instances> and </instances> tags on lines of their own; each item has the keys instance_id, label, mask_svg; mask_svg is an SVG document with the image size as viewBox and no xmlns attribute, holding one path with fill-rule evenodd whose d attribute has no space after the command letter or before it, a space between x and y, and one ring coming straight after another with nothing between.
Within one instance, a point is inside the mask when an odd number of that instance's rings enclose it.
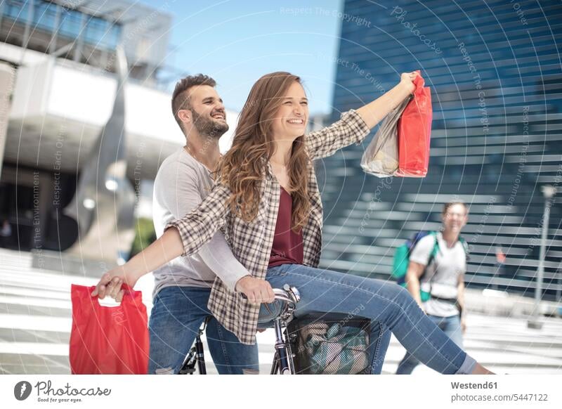
<instances>
[{"instance_id":1,"label":"maroon top under the woman's open plaid shirt","mask_svg":"<svg viewBox=\"0 0 562 409\"><path fill-rule=\"evenodd\" d=\"M287 190L281 188L279 212L268 267L281 264L303 264L303 229L301 228L299 233L291 230L292 210L293 199Z\"/></svg>"}]
</instances>

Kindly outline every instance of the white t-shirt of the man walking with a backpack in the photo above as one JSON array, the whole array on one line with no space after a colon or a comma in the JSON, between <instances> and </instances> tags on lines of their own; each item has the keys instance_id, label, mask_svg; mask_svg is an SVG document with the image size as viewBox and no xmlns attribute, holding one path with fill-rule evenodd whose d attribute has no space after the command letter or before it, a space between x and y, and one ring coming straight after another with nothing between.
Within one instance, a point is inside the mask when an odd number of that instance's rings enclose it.
<instances>
[{"instance_id":1,"label":"white t-shirt of the man walking with a backpack","mask_svg":"<svg viewBox=\"0 0 562 409\"><path fill-rule=\"evenodd\" d=\"M431 292L433 296L456 299L459 275L466 271L466 253L462 242L458 240L455 245L448 247L447 242L443 240L443 234L440 232L437 233L437 240L439 250L434 261L426 269L424 278L420 280L419 285L421 290ZM412 249L410 261L427 266L434 244L435 238L433 238L433 235L426 235L421 238ZM433 298L424 302L424 309L426 313L438 317L451 317L459 313L454 303Z\"/></svg>"}]
</instances>

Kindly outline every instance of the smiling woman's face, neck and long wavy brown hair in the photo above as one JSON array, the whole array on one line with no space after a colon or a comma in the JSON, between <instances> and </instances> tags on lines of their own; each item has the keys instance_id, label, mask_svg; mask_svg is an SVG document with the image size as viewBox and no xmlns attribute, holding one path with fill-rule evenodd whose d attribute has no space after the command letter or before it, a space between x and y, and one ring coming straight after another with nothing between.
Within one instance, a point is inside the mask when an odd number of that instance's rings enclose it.
<instances>
[{"instance_id":1,"label":"smiling woman's face, neck and long wavy brown hair","mask_svg":"<svg viewBox=\"0 0 562 409\"><path fill-rule=\"evenodd\" d=\"M266 96L264 96L266 95ZM308 163L304 143L308 100L301 79L273 72L252 87L240 113L233 146L223 157L218 175L233 195L233 214L251 221L258 212L263 160L274 167L277 181L292 195L292 227L306 224L310 209ZM240 201L240 207L236 203Z\"/></svg>"}]
</instances>

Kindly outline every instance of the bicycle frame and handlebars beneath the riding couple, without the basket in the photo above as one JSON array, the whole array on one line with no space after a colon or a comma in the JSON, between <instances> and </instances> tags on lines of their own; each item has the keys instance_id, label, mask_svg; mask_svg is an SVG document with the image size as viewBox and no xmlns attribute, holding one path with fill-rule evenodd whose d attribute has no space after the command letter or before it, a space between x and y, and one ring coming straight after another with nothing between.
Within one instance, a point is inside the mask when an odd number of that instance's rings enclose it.
<instances>
[{"instance_id":1,"label":"bicycle frame and handlebars beneath the riding couple, without the basket","mask_svg":"<svg viewBox=\"0 0 562 409\"><path fill-rule=\"evenodd\" d=\"M291 344L296 335L289 334L287 325L293 320L296 304L301 300L301 294L296 287L285 284L282 289L274 288L275 301L271 304L265 304L266 309L271 313L271 318L266 322L259 322L260 330L272 328L275 330L275 355L271 364L271 375L292 375L296 373L294 366L294 354L291 350ZM272 308L274 309L272 311ZM207 318L208 320L208 318ZM205 365L203 342L201 336L207 327L207 320L204 321L200 328L195 343L191 347L188 356L179 371L179 375L193 375L195 367L200 375L207 375L207 366Z\"/></svg>"}]
</instances>

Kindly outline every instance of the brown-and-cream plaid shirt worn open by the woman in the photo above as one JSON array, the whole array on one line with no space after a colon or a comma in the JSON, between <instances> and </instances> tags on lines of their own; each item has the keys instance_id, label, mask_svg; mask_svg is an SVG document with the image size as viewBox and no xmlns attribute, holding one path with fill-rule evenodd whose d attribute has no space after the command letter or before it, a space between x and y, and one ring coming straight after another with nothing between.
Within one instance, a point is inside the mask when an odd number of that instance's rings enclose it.
<instances>
[{"instance_id":1,"label":"brown-and-cream plaid shirt worn open by the woman","mask_svg":"<svg viewBox=\"0 0 562 409\"><path fill-rule=\"evenodd\" d=\"M308 164L308 193L311 199L311 214L303 227L303 251L305 266L318 267L322 249L322 202L312 160L334 154L351 143L361 143L370 129L354 110L341 115L331 126L305 136L306 148L311 162ZM209 242L220 228L235 257L254 277L266 277L277 211L279 209L280 185L269 162L264 162L267 171L261 183L261 201L258 215L249 223L229 212L226 201L230 189L215 183L211 192L199 207L183 219L166 226L178 229L183 240L184 256L197 252ZM233 292L216 278L209 297L209 310L227 330L233 332L240 342L255 344L259 305L251 304L239 292Z\"/></svg>"}]
</instances>

